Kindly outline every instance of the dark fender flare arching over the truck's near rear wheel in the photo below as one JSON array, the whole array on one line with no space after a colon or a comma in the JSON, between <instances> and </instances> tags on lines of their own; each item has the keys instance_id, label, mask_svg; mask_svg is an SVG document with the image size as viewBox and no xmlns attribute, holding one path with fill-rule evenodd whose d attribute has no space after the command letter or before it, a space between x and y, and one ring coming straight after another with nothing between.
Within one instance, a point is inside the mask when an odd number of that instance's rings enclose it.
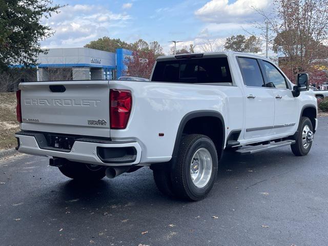
<instances>
[{"instance_id":1,"label":"dark fender flare arching over the truck's near rear wheel","mask_svg":"<svg viewBox=\"0 0 328 246\"><path fill-rule=\"evenodd\" d=\"M172 160L175 160L177 157L177 153L179 151L179 146L180 146L180 142L181 142L181 138L182 138L183 129L185 128L187 122L193 118L199 118L199 117L216 117L221 121L222 129L223 129L222 130L221 153L223 152L225 139L226 139L226 127L224 125L224 119L223 119L222 114L220 114L219 112L214 111L214 110L197 110L197 111L189 112L188 114L186 114L185 116L182 117L179 127L178 127L176 138L175 138L175 143L174 143L174 148L173 148L173 153L172 153ZM218 159L220 159L219 156L218 156Z\"/></svg>"}]
</instances>

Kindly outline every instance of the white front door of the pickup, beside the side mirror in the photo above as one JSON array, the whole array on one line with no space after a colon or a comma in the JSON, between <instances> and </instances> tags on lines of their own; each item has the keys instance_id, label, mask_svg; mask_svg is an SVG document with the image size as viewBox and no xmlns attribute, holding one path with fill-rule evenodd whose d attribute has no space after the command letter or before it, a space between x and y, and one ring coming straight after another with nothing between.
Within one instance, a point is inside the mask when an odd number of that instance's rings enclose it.
<instances>
[{"instance_id":1,"label":"white front door of the pickup, beside the side mirror","mask_svg":"<svg viewBox=\"0 0 328 246\"><path fill-rule=\"evenodd\" d=\"M272 134L293 132L299 119L299 100L292 94L288 82L278 68L269 61L261 60L266 86L272 91L275 101L275 119Z\"/></svg>"}]
</instances>

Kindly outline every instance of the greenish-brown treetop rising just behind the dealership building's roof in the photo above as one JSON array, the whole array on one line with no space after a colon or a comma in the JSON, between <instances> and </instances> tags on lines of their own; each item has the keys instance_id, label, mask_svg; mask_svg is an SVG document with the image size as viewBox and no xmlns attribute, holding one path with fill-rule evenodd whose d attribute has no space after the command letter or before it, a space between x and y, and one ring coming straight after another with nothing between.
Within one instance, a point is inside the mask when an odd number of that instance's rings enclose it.
<instances>
[{"instance_id":1,"label":"greenish-brown treetop rising just behind the dealership building's roof","mask_svg":"<svg viewBox=\"0 0 328 246\"><path fill-rule=\"evenodd\" d=\"M101 37L97 40L91 41L89 44L84 47L95 49L95 50L103 50L108 52L116 52L116 49L128 49L132 50L132 45L122 41L119 38L110 38L110 37Z\"/></svg>"}]
</instances>

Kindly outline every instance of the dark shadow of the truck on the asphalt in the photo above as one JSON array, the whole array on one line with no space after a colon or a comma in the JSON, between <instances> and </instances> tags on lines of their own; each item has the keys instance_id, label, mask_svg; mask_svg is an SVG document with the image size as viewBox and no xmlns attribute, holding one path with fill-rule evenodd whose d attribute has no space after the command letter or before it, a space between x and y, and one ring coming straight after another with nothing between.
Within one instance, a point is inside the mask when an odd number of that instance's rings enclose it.
<instances>
[{"instance_id":1,"label":"dark shadow of the truck on the asphalt","mask_svg":"<svg viewBox=\"0 0 328 246\"><path fill-rule=\"evenodd\" d=\"M308 159L310 156L311 154L303 157L303 159ZM226 152L219 163L215 186L227 186L227 182L233 183L234 181L243 184L248 182L256 183L279 175L281 170L285 172L288 169L295 168L295 166L299 167L300 163L295 163L294 158L295 156L289 148L258 153L253 156L241 156ZM292 162L292 160L294 161ZM289 168L281 168L282 166L288 166ZM111 202L119 202L121 206L129 202L138 203L139 206L142 206L142 203L147 206L149 202L186 202L163 196L155 186L152 171L147 167L141 168L134 173L122 174L114 179L105 177L95 183L81 183L69 180L59 182L57 186L59 200L67 203L67 201L74 202L78 199L80 202L85 202L86 206L93 204L93 206L101 207ZM211 196L213 195L220 196L219 190L216 190L215 187L211 192Z\"/></svg>"}]
</instances>

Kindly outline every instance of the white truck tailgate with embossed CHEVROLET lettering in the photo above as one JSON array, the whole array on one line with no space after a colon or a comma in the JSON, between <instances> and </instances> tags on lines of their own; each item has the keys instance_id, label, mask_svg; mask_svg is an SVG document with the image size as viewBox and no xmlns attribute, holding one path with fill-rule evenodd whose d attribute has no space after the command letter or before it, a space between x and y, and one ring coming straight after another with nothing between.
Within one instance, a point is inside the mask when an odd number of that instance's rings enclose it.
<instances>
[{"instance_id":1,"label":"white truck tailgate with embossed CHEVROLET lettering","mask_svg":"<svg viewBox=\"0 0 328 246\"><path fill-rule=\"evenodd\" d=\"M22 130L110 136L109 81L21 83Z\"/></svg>"}]
</instances>

